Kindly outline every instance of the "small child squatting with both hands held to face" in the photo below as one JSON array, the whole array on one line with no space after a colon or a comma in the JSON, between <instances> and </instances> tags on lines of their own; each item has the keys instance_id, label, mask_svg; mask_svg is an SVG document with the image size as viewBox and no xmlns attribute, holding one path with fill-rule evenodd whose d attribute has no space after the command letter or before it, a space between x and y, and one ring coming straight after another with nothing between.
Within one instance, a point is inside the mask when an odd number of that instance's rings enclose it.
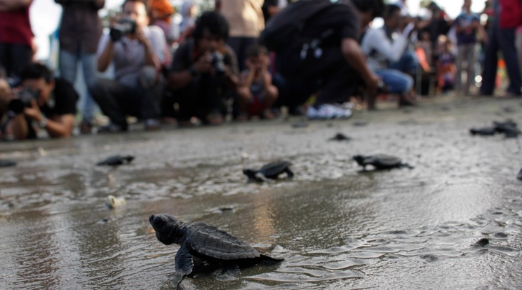
<instances>
[{"instance_id":1,"label":"small child squatting with both hands held to face","mask_svg":"<svg viewBox=\"0 0 522 290\"><path fill-rule=\"evenodd\" d=\"M238 88L241 113L236 120L246 120L251 116L274 118L270 108L276 102L279 91L272 83L272 75L268 71L268 50L264 46L254 44L248 48L246 57L246 69L241 72Z\"/></svg>"}]
</instances>

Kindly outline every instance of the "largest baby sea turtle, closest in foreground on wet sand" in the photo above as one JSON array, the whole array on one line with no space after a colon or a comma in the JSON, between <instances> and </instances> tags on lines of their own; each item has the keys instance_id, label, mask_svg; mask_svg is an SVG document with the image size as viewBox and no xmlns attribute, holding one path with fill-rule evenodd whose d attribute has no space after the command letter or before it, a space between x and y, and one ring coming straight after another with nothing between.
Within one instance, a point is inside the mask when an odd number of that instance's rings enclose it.
<instances>
[{"instance_id":1,"label":"largest baby sea turtle, closest in foreground on wet sand","mask_svg":"<svg viewBox=\"0 0 522 290\"><path fill-rule=\"evenodd\" d=\"M276 263L281 259L260 254L249 244L237 237L205 223L183 223L169 214L152 214L149 223L156 237L163 244L179 244L175 256L173 284L178 286L183 277L194 268L193 257L203 258L209 263L236 265L268 261Z\"/></svg>"}]
</instances>

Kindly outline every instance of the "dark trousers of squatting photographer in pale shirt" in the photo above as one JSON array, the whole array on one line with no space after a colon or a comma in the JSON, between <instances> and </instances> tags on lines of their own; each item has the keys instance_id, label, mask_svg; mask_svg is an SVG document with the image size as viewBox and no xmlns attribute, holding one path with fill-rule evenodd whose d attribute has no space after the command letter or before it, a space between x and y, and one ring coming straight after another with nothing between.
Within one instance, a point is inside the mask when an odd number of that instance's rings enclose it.
<instances>
[{"instance_id":1,"label":"dark trousers of squatting photographer in pale shirt","mask_svg":"<svg viewBox=\"0 0 522 290\"><path fill-rule=\"evenodd\" d=\"M117 81L100 78L91 87L91 95L112 123L127 130L126 116L141 119L159 118L159 102L140 85L128 87Z\"/></svg>"}]
</instances>

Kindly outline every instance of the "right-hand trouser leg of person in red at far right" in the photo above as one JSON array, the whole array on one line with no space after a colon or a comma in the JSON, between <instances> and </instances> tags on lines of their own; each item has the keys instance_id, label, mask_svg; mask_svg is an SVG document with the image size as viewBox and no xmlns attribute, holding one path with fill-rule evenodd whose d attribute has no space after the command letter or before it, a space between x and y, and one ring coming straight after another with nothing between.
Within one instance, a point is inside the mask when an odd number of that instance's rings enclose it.
<instances>
[{"instance_id":1,"label":"right-hand trouser leg of person in red at far right","mask_svg":"<svg viewBox=\"0 0 522 290\"><path fill-rule=\"evenodd\" d=\"M521 95L522 76L518 67L518 57L515 47L515 29L499 29L500 48L506 62L507 74L509 76L509 86L507 92L513 95Z\"/></svg>"}]
</instances>

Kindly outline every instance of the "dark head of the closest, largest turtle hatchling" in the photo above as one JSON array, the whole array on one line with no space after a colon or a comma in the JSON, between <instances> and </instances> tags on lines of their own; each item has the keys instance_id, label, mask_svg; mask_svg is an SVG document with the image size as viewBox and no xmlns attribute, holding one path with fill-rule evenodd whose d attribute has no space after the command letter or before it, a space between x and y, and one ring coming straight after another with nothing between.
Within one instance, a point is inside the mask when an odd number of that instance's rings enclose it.
<instances>
[{"instance_id":1,"label":"dark head of the closest, largest turtle hatchling","mask_svg":"<svg viewBox=\"0 0 522 290\"><path fill-rule=\"evenodd\" d=\"M156 232L156 237L163 244L180 244L183 238L185 223L170 214L152 214L149 223Z\"/></svg>"}]
</instances>

